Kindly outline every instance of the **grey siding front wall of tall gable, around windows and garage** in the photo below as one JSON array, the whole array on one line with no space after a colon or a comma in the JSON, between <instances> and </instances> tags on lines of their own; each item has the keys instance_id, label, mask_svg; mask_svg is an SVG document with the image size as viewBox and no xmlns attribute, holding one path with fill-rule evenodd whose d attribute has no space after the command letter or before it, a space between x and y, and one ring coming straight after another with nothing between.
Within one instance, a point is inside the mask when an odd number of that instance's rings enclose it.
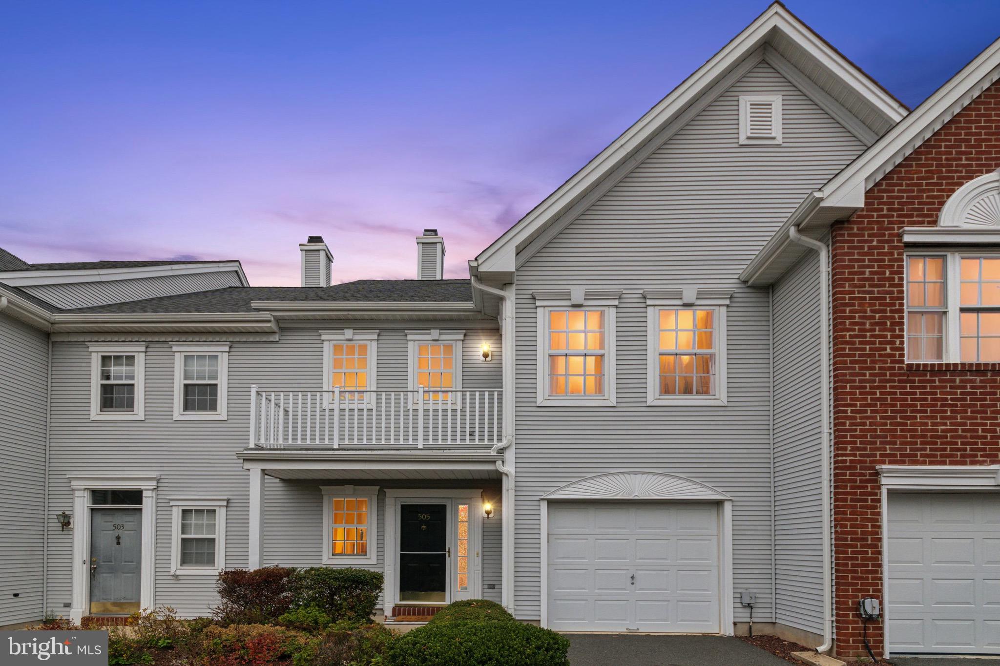
<instances>
[{"instance_id":1,"label":"grey siding front wall of tall gable, around windows and garage","mask_svg":"<svg viewBox=\"0 0 1000 666\"><path fill-rule=\"evenodd\" d=\"M739 145L739 96L781 94L784 143ZM539 502L561 484L616 470L689 476L733 497L734 591L771 613L770 340L766 291L737 276L794 210L864 145L765 63L754 67L555 236L517 274L519 618L539 617ZM616 407L536 405L531 292L622 289ZM735 290L725 407L646 405L642 290ZM748 619L735 604L738 621Z\"/></svg>"}]
</instances>

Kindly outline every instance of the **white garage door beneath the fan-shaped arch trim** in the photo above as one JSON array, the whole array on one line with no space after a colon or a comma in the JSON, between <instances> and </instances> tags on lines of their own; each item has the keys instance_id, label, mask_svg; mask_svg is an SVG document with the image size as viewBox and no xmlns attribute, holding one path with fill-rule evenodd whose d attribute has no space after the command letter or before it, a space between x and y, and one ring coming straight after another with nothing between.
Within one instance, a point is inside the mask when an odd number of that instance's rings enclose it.
<instances>
[{"instance_id":1,"label":"white garage door beneath the fan-shaped arch trim","mask_svg":"<svg viewBox=\"0 0 1000 666\"><path fill-rule=\"evenodd\" d=\"M718 513L711 503L550 503L549 628L718 633Z\"/></svg>"}]
</instances>

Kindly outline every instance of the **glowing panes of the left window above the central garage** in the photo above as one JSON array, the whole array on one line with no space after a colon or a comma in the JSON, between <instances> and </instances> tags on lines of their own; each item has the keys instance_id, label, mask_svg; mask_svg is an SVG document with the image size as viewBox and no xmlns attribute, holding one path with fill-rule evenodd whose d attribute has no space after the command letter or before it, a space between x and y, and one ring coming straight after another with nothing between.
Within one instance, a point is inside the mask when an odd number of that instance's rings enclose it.
<instances>
[{"instance_id":1,"label":"glowing panes of the left window above the central garage","mask_svg":"<svg viewBox=\"0 0 1000 666\"><path fill-rule=\"evenodd\" d=\"M548 310L549 396L605 395L606 319L605 310Z\"/></svg>"}]
</instances>

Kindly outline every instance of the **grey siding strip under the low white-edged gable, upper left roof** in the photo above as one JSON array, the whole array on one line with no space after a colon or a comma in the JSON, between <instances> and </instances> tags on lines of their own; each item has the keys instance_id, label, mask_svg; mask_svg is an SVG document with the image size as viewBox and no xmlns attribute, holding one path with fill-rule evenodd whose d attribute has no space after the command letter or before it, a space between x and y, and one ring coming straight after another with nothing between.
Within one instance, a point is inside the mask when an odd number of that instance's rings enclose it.
<instances>
[{"instance_id":1,"label":"grey siding strip under the low white-edged gable, upper left roof","mask_svg":"<svg viewBox=\"0 0 1000 666\"><path fill-rule=\"evenodd\" d=\"M21 289L60 308L84 308L156 296L239 287L241 284L236 271L218 271L109 282L28 285Z\"/></svg>"}]
</instances>

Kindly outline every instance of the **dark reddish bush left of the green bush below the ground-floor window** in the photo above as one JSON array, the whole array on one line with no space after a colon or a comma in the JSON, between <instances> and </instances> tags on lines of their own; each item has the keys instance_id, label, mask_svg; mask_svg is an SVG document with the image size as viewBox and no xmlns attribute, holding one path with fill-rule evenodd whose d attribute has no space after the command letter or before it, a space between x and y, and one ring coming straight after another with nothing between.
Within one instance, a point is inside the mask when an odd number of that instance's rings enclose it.
<instances>
[{"instance_id":1,"label":"dark reddish bush left of the green bush below the ground-floor window","mask_svg":"<svg viewBox=\"0 0 1000 666\"><path fill-rule=\"evenodd\" d=\"M215 586L220 599L213 610L215 619L224 625L277 621L292 605L290 578L294 572L287 567L220 572Z\"/></svg>"}]
</instances>

